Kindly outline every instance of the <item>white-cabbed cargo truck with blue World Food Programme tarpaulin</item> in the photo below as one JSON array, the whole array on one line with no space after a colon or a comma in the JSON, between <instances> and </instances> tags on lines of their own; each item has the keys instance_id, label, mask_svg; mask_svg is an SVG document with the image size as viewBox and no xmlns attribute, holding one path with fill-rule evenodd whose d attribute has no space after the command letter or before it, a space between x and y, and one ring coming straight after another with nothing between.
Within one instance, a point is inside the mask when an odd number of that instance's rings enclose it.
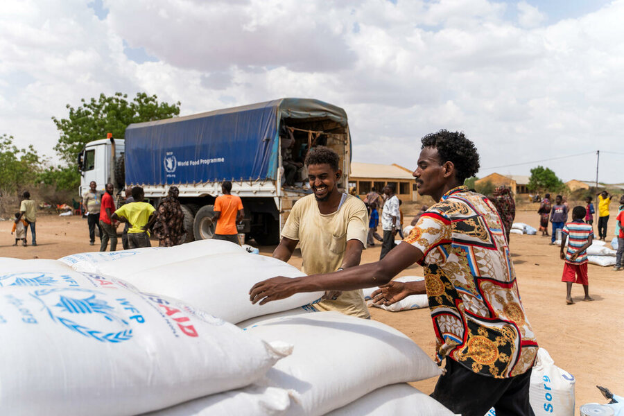
<instances>
[{"instance_id":1,"label":"white-cabbed cargo truck with blue World Food Programme tarpaulin","mask_svg":"<svg viewBox=\"0 0 624 416\"><path fill-rule=\"evenodd\" d=\"M296 162L315 146L336 151L343 171L338 187L346 191L352 151L345 110L313 99L281 98L135 123L128 125L124 139L91 141L78 156L80 196L92 180L102 191L111 182L121 202L123 189L138 185L157 206L175 185L187 241L193 241L214 234L214 200L221 182L229 180L245 211L239 232L261 245L277 244L293 204L311 193L304 166L294 186L285 186L286 143Z\"/></svg>"}]
</instances>

